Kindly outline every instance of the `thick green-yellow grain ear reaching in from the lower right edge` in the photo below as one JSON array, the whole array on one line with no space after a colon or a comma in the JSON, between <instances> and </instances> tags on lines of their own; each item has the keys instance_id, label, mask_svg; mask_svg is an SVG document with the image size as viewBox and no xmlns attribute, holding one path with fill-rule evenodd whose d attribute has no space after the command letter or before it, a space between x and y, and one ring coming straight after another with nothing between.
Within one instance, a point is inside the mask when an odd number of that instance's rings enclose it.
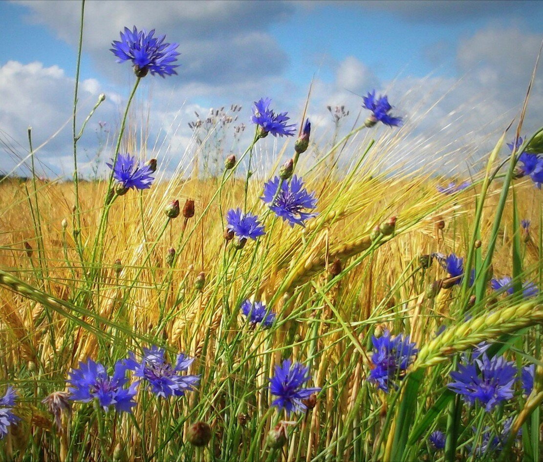
<instances>
[{"instance_id":1,"label":"thick green-yellow grain ear reaching in from the lower right edge","mask_svg":"<svg viewBox=\"0 0 543 462\"><path fill-rule=\"evenodd\" d=\"M484 340L493 340L523 327L543 322L543 305L525 302L482 314L451 327L420 349L413 370L445 362L453 353L468 350Z\"/></svg>"}]
</instances>

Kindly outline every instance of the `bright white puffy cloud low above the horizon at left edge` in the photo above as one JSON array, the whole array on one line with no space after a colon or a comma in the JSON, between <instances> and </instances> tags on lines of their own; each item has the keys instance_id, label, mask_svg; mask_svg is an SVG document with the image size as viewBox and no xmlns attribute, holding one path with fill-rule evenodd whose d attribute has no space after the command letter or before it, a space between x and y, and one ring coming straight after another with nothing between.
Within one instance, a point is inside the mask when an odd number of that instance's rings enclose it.
<instances>
[{"instance_id":1,"label":"bright white puffy cloud low above the horizon at left edge","mask_svg":"<svg viewBox=\"0 0 543 462\"><path fill-rule=\"evenodd\" d=\"M37 158L44 162L43 173L50 173L51 169L59 173L71 165L73 87L74 79L67 77L58 66L17 61L0 66L0 143L10 157L10 161L1 166L3 172L9 172L28 155L28 126L32 127L34 148L43 145L37 153ZM98 81L81 81L80 121L97 102L100 92ZM116 106L106 101L100 106L99 114L115 119ZM82 147L89 147L90 141L88 136L82 138ZM70 173L70 168L66 173Z\"/></svg>"}]
</instances>

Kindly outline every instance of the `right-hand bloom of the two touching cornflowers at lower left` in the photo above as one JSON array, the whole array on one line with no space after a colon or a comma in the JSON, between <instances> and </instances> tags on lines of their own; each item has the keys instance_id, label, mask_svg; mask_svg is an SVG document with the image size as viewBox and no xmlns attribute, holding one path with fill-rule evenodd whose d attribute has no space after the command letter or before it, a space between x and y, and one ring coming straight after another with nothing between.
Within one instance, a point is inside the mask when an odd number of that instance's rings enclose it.
<instances>
[{"instance_id":1,"label":"right-hand bloom of the two touching cornflowers at lower left","mask_svg":"<svg viewBox=\"0 0 543 462\"><path fill-rule=\"evenodd\" d=\"M156 396L183 396L185 391L192 390L200 381L199 375L181 374L188 370L194 358L179 353L173 365L167 362L165 353L165 350L153 345L150 349L143 349L141 363L135 360L134 353L130 354L128 363L134 369L134 376L146 381L149 390Z\"/></svg>"}]
</instances>

